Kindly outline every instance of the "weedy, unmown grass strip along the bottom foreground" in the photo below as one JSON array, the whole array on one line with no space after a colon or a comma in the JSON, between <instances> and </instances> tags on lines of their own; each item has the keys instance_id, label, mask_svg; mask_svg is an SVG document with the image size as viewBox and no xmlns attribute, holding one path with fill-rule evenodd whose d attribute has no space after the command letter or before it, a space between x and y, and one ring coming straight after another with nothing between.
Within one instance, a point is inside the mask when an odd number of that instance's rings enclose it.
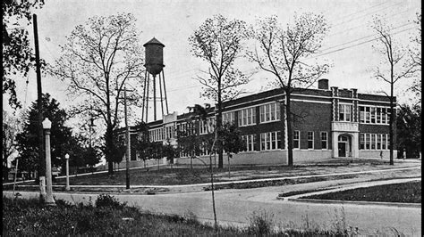
<instances>
[{"instance_id":1,"label":"weedy, unmown grass strip along the bottom foreground","mask_svg":"<svg viewBox=\"0 0 424 237\"><path fill-rule=\"evenodd\" d=\"M99 201L100 200L100 201ZM247 227L200 224L193 214L186 217L157 215L126 206L112 196L100 195L95 205L72 205L56 200L45 207L38 200L3 197L4 236L350 236L349 230L281 230L273 216L253 213Z\"/></svg>"}]
</instances>

